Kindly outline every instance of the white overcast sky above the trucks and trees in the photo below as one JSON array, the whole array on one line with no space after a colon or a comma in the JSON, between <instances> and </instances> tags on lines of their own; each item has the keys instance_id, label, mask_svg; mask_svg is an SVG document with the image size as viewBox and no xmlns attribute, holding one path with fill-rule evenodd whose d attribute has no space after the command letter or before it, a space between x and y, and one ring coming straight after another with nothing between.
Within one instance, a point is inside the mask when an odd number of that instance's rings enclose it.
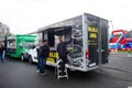
<instances>
[{"instance_id":1,"label":"white overcast sky above the trucks and trees","mask_svg":"<svg viewBox=\"0 0 132 88\"><path fill-rule=\"evenodd\" d=\"M131 3L131 0L0 0L0 22L13 34L25 34L86 12L112 21L113 30L130 30Z\"/></svg>"}]
</instances>

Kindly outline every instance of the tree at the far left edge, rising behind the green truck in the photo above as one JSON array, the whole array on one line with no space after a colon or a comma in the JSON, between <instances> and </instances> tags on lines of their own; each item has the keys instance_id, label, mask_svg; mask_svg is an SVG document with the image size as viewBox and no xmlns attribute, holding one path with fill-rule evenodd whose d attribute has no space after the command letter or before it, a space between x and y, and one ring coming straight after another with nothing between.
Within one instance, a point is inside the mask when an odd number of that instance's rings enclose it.
<instances>
[{"instance_id":1,"label":"tree at the far left edge, rising behind the green truck","mask_svg":"<svg viewBox=\"0 0 132 88\"><path fill-rule=\"evenodd\" d=\"M3 41L6 36L11 35L10 29L0 22L0 41Z\"/></svg>"}]
</instances>

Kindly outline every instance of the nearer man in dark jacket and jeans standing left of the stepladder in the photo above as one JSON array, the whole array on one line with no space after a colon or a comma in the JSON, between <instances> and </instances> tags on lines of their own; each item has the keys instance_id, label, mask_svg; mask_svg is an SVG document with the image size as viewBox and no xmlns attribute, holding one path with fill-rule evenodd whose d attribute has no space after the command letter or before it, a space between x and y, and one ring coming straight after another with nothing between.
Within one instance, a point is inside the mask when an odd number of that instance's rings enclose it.
<instances>
[{"instance_id":1,"label":"nearer man in dark jacket and jeans standing left of the stepladder","mask_svg":"<svg viewBox=\"0 0 132 88\"><path fill-rule=\"evenodd\" d=\"M40 53L38 53L41 75L45 75L44 69L45 69L46 58L48 57L48 54L50 54L50 47L47 44L47 40L44 40L44 44L40 47Z\"/></svg>"}]
</instances>

